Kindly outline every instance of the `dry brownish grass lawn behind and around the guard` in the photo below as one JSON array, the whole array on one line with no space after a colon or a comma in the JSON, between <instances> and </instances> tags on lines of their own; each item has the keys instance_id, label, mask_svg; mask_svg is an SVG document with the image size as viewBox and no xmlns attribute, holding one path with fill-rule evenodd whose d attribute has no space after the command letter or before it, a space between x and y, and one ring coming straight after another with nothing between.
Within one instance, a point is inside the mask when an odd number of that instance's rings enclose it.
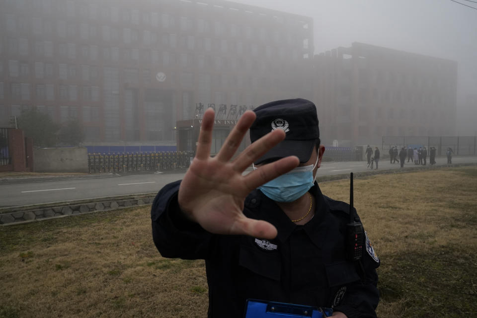
<instances>
[{"instance_id":1,"label":"dry brownish grass lawn behind and around the guard","mask_svg":"<svg viewBox=\"0 0 477 318\"><path fill-rule=\"evenodd\" d=\"M475 166L355 180L379 317L477 317L476 193ZM0 282L0 318L207 316L204 262L161 257L148 207L0 227Z\"/></svg>"}]
</instances>

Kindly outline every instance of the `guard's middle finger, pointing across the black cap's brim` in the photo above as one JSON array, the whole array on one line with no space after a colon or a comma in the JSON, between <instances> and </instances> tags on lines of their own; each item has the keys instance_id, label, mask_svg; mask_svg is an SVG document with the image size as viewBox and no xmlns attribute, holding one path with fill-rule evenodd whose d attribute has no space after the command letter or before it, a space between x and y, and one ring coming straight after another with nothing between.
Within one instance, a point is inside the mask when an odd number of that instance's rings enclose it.
<instances>
[{"instance_id":1,"label":"guard's middle finger, pointing across the black cap's brim","mask_svg":"<svg viewBox=\"0 0 477 318\"><path fill-rule=\"evenodd\" d=\"M285 139L285 132L276 129L261 137L240 153L234 160L234 169L237 171L245 170L253 161L262 157L267 151L278 145Z\"/></svg>"}]
</instances>

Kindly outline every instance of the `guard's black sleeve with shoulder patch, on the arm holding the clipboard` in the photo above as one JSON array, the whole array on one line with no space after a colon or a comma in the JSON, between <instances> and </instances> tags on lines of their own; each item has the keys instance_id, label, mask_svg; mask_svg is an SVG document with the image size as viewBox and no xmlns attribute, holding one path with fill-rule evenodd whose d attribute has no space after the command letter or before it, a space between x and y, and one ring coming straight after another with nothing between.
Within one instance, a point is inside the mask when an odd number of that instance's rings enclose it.
<instances>
[{"instance_id":1,"label":"guard's black sleeve with shoulder patch, on the arm holding the clipboard","mask_svg":"<svg viewBox=\"0 0 477 318\"><path fill-rule=\"evenodd\" d=\"M362 279L346 286L343 300L333 308L333 311L342 312L348 318L376 318L376 307L379 303L376 268L380 264L381 261L369 242L368 236L364 235L363 257L361 261L356 262Z\"/></svg>"}]
</instances>

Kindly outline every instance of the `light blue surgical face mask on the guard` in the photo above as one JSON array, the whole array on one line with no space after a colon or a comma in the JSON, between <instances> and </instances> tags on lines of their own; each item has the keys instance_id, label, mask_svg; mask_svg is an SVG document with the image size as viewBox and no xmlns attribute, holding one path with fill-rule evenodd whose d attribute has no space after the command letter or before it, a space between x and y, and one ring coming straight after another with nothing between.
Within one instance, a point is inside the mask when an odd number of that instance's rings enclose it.
<instances>
[{"instance_id":1,"label":"light blue surgical face mask on the guard","mask_svg":"<svg viewBox=\"0 0 477 318\"><path fill-rule=\"evenodd\" d=\"M316 164L296 167L288 173L258 187L267 197L277 202L293 202L304 195L315 184L313 169ZM256 169L255 167L253 167Z\"/></svg>"}]
</instances>

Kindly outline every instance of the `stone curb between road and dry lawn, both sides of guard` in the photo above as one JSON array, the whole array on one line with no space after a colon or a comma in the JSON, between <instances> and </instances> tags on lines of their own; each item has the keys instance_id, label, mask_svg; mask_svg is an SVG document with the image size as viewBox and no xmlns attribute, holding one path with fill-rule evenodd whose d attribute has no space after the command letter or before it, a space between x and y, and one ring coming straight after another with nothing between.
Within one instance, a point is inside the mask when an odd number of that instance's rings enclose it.
<instances>
[{"instance_id":1,"label":"stone curb between road and dry lawn, both sides of guard","mask_svg":"<svg viewBox=\"0 0 477 318\"><path fill-rule=\"evenodd\" d=\"M365 178L377 174L406 173L424 170L436 170L447 167L477 166L477 163L456 163L433 166L415 166L400 169L370 170L353 173L354 178ZM317 177L317 182L349 179L350 175L335 174ZM157 192L100 197L93 199L72 200L64 202L42 203L26 206L0 208L0 225L8 226L36 221L62 218L71 215L80 215L100 211L113 211L132 207L150 205L153 203Z\"/></svg>"}]
</instances>

